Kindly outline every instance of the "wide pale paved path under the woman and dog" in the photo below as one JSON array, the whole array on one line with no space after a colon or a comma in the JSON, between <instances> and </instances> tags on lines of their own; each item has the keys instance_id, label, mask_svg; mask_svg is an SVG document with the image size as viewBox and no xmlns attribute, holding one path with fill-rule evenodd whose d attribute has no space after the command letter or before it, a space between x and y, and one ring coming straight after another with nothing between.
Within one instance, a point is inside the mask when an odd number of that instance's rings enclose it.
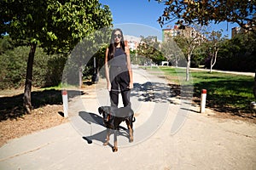
<instances>
[{"instance_id":1,"label":"wide pale paved path under the woman and dog","mask_svg":"<svg viewBox=\"0 0 256 170\"><path fill-rule=\"evenodd\" d=\"M103 81L69 103L69 123L3 145L0 169L256 169L254 124L199 114L189 101L168 96L163 79L133 72L133 143L121 129L118 152L102 146L106 131L97 107L109 104Z\"/></svg>"}]
</instances>

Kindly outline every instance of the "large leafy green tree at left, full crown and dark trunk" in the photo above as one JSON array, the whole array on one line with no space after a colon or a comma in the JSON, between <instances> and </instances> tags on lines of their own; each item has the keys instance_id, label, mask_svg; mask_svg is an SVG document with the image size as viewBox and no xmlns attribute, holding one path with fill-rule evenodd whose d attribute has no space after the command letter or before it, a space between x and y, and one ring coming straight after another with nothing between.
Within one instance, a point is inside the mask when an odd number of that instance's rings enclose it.
<instances>
[{"instance_id":1,"label":"large leafy green tree at left, full crown and dark trunk","mask_svg":"<svg viewBox=\"0 0 256 170\"><path fill-rule=\"evenodd\" d=\"M49 53L68 54L83 37L111 24L108 6L98 0L6 0L0 4L1 35L26 43L30 52L26 67L24 107L31 113L32 65L37 46Z\"/></svg>"}]
</instances>

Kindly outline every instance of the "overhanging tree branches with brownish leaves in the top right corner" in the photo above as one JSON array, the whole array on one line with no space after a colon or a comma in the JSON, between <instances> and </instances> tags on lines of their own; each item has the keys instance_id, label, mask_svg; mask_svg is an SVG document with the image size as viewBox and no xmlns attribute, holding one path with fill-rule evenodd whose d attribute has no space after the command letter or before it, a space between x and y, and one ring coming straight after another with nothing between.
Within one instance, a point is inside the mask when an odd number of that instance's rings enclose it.
<instances>
[{"instance_id":1,"label":"overhanging tree branches with brownish leaves in the top right corner","mask_svg":"<svg viewBox=\"0 0 256 170\"><path fill-rule=\"evenodd\" d=\"M149 0L150 1L150 0ZM177 24L192 23L207 26L214 21L237 23L244 29L256 33L256 3L254 0L155 0L164 3L166 8L158 22L161 26L178 20Z\"/></svg>"}]
</instances>

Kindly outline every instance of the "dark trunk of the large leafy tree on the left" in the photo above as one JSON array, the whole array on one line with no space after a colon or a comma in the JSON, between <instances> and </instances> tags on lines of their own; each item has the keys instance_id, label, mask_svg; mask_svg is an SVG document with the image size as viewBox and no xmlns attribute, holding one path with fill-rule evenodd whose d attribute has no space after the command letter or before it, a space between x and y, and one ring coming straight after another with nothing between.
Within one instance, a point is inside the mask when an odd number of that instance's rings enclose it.
<instances>
[{"instance_id":1,"label":"dark trunk of the large leafy tree on the left","mask_svg":"<svg viewBox=\"0 0 256 170\"><path fill-rule=\"evenodd\" d=\"M25 112L27 114L30 114L32 111L32 104L31 104L32 68L33 68L36 48L37 48L37 43L31 43L30 52L28 55L27 63L26 63L26 82L25 82L25 89L24 89L23 105L24 105Z\"/></svg>"}]
</instances>

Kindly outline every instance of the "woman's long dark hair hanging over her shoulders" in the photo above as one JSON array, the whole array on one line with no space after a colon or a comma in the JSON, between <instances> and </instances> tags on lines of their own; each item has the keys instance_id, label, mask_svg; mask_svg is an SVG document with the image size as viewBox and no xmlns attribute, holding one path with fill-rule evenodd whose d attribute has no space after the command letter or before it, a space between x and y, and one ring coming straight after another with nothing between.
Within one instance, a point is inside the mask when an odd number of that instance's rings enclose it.
<instances>
[{"instance_id":1,"label":"woman's long dark hair hanging over her shoulders","mask_svg":"<svg viewBox=\"0 0 256 170\"><path fill-rule=\"evenodd\" d=\"M120 46L121 48L124 50L125 52L125 41L124 41L124 35L123 35L123 31L121 31L121 29L116 28L112 31L111 34L111 40L110 40L110 44L108 46L108 60L113 59L114 56L114 52L115 52L115 45L114 45L114 33L115 31L120 31L121 33L121 41L120 41Z\"/></svg>"}]
</instances>

